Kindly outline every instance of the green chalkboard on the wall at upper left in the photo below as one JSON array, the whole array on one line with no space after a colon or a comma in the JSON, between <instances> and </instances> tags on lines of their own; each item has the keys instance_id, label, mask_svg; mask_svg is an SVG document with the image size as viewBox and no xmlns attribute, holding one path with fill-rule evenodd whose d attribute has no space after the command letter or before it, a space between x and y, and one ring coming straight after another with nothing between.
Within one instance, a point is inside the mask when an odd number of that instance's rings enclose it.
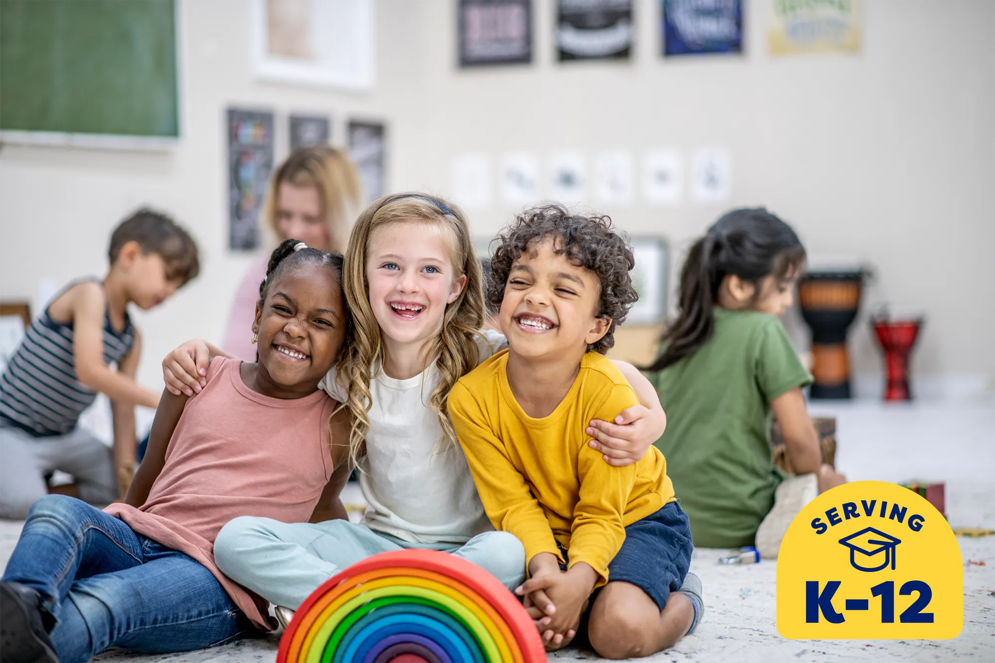
<instances>
[{"instance_id":1,"label":"green chalkboard on the wall at upper left","mask_svg":"<svg viewBox=\"0 0 995 663\"><path fill-rule=\"evenodd\" d=\"M175 23L173 0L0 0L0 132L178 137Z\"/></svg>"}]
</instances>

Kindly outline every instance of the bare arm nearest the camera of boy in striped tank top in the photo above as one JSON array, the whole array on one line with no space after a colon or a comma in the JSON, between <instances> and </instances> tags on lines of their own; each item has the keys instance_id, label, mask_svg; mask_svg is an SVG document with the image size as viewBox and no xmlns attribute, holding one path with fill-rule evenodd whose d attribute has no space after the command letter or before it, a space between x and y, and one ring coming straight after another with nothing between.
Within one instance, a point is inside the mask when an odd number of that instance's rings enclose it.
<instances>
[{"instance_id":1,"label":"bare arm nearest the camera of boy in striped tank top","mask_svg":"<svg viewBox=\"0 0 995 663\"><path fill-rule=\"evenodd\" d=\"M103 314L106 298L96 283L67 293L73 317L73 362L81 382L112 401L156 407L159 397L133 378L103 363Z\"/></svg>"}]
</instances>

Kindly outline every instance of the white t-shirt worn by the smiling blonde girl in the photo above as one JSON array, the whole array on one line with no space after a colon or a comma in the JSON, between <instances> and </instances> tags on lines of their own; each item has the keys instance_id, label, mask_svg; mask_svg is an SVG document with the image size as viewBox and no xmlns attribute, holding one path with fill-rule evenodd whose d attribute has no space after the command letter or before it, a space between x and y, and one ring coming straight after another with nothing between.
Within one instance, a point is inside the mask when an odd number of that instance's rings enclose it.
<instances>
[{"instance_id":1,"label":"white t-shirt worn by the smiling blonde girl","mask_svg":"<svg viewBox=\"0 0 995 663\"><path fill-rule=\"evenodd\" d=\"M497 331L483 331L477 338L480 361L507 347ZM442 439L439 416L429 406L439 384L435 362L406 380L373 367L366 433L366 458L362 461L359 488L369 505L363 522L416 544L464 544L494 528L484 513L467 459L459 444L435 453ZM344 402L345 390L332 368L319 386Z\"/></svg>"}]
</instances>

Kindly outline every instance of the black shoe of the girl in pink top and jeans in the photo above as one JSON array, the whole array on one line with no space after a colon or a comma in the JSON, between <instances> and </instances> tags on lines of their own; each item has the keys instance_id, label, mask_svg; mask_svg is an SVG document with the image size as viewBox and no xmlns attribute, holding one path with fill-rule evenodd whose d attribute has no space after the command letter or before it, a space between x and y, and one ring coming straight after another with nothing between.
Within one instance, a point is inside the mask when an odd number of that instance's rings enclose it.
<instances>
[{"instance_id":1,"label":"black shoe of the girl in pink top and jeans","mask_svg":"<svg viewBox=\"0 0 995 663\"><path fill-rule=\"evenodd\" d=\"M20 582L0 582L0 663L59 663L40 596Z\"/></svg>"}]
</instances>

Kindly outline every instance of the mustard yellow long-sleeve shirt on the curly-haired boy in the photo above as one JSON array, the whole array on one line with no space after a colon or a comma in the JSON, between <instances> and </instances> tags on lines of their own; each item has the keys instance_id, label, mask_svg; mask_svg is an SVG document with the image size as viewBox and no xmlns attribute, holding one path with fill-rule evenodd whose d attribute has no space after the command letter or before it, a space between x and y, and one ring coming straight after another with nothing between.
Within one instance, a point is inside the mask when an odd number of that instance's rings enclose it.
<instances>
[{"instance_id":1,"label":"mustard yellow long-sleeve shirt on the curly-haired boy","mask_svg":"<svg viewBox=\"0 0 995 663\"><path fill-rule=\"evenodd\" d=\"M513 534L527 561L556 542L570 565L584 561L608 580L625 528L674 500L667 461L656 447L638 463L613 467L587 445L592 419L613 421L639 402L611 360L588 352L566 396L541 419L528 416L507 382L507 350L464 375L449 395L449 414L484 509L497 530Z\"/></svg>"}]
</instances>

